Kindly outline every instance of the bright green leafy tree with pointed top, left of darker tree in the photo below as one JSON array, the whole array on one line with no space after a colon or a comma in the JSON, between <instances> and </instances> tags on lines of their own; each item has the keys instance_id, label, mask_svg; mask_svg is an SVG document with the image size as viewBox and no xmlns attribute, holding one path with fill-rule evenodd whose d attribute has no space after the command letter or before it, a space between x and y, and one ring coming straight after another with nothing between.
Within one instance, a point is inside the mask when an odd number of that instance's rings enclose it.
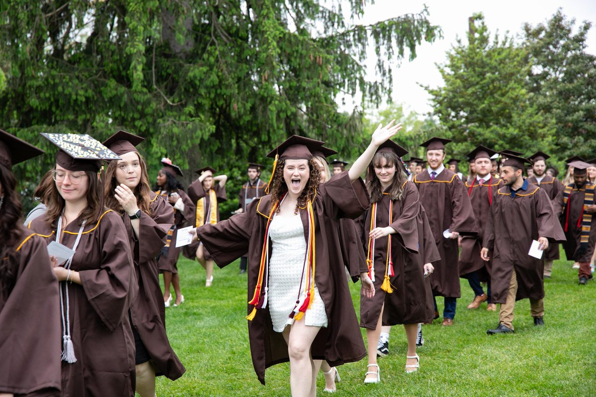
<instances>
[{"instance_id":1,"label":"bright green leafy tree with pointed top, left of darker tree","mask_svg":"<svg viewBox=\"0 0 596 397\"><path fill-rule=\"evenodd\" d=\"M454 139L448 156L462 156L476 145L496 150L552 148L552 118L536 105L526 87L526 50L505 35L491 38L482 14L471 18L468 43L461 39L438 65L445 86L430 88L433 114Z\"/></svg>"}]
</instances>

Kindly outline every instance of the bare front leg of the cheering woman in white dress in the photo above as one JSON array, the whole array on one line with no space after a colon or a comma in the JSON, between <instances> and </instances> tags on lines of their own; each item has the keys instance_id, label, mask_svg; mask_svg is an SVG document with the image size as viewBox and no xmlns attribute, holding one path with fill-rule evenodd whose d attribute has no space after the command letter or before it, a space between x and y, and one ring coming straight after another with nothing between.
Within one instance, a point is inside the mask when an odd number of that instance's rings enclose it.
<instances>
[{"instance_id":1,"label":"bare front leg of the cheering woman in white dress","mask_svg":"<svg viewBox=\"0 0 596 397\"><path fill-rule=\"evenodd\" d=\"M321 327L306 326L304 319L285 327L282 335L290 355L290 389L292 397L316 397L316 371L311 345Z\"/></svg>"}]
</instances>

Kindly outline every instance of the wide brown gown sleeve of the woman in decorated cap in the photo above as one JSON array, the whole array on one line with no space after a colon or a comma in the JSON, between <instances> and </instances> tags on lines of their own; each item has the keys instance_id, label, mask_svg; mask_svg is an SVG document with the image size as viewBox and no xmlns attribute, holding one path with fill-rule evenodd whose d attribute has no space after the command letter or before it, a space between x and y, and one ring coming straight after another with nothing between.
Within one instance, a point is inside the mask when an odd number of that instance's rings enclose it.
<instances>
[{"instance_id":1,"label":"wide brown gown sleeve of the woman in decorated cap","mask_svg":"<svg viewBox=\"0 0 596 397\"><path fill-rule=\"evenodd\" d=\"M79 271L85 295L105 328L114 332L128 312L134 280L128 235L116 212L104 215L98 239L101 264L96 269Z\"/></svg>"}]
</instances>

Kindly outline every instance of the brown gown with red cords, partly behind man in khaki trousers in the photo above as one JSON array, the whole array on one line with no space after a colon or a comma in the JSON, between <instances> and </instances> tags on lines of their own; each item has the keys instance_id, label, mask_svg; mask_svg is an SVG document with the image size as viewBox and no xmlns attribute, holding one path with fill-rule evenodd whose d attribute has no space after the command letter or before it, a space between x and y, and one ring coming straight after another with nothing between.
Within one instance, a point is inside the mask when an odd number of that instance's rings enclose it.
<instances>
[{"instance_id":1,"label":"brown gown with red cords, partly behind man in khaki trousers","mask_svg":"<svg viewBox=\"0 0 596 397\"><path fill-rule=\"evenodd\" d=\"M489 191L491 192L492 202L494 202L496 192L502 186L503 181L495 177L483 182L482 186L480 186L477 179L465 182L465 190L470 195L472 210L478 225L478 235L461 237L460 277L464 279L467 279L473 271L478 271L480 281L486 282L490 277L491 262L485 262L480 258L480 250L482 249L483 231L490 216L489 211L491 211Z\"/></svg>"}]
</instances>

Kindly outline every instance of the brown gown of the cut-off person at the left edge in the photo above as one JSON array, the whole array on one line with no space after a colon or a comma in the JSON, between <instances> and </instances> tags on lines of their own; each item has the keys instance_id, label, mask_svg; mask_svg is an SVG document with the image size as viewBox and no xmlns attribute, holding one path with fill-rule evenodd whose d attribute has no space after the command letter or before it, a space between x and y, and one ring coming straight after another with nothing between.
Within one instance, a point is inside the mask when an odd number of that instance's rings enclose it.
<instances>
[{"instance_id":1,"label":"brown gown of the cut-off person at the left edge","mask_svg":"<svg viewBox=\"0 0 596 397\"><path fill-rule=\"evenodd\" d=\"M58 280L41 237L18 225L13 289L0 284L0 393L57 396L60 390Z\"/></svg>"}]
</instances>

